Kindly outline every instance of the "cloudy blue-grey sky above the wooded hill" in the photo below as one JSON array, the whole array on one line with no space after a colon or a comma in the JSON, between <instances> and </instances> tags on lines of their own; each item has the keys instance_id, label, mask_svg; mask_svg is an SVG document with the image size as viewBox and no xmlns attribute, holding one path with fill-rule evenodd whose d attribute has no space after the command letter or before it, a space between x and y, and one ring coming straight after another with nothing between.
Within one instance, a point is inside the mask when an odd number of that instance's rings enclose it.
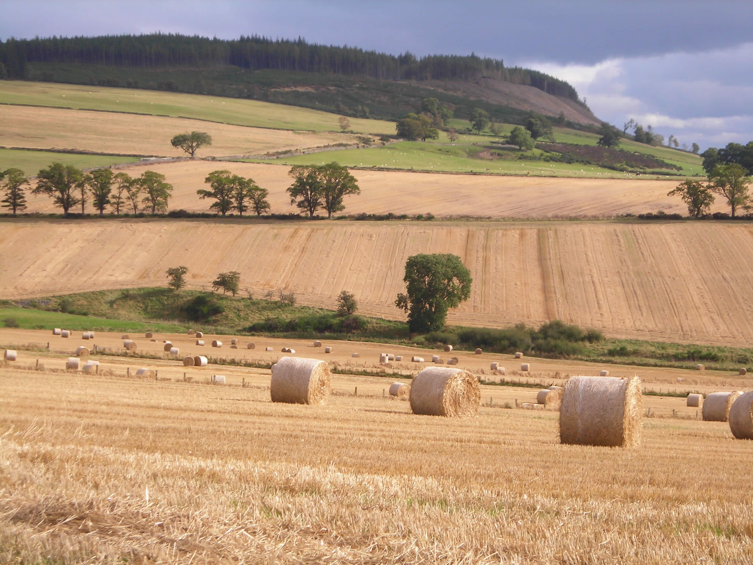
<instances>
[{"instance_id":1,"label":"cloudy blue-grey sky above the wooded hill","mask_svg":"<svg viewBox=\"0 0 753 565\"><path fill-rule=\"evenodd\" d=\"M492 56L569 81L602 120L634 118L702 150L753 139L753 2L82 2L2 0L0 38L265 35Z\"/></svg>"}]
</instances>

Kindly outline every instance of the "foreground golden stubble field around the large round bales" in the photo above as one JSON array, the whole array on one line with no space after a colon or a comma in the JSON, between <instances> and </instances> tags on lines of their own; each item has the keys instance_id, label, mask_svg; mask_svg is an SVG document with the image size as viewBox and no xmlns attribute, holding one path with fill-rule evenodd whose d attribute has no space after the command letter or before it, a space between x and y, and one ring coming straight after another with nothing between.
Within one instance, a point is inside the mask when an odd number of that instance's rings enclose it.
<instances>
[{"instance_id":1,"label":"foreground golden stubble field around the large round bales","mask_svg":"<svg viewBox=\"0 0 753 565\"><path fill-rule=\"evenodd\" d=\"M160 378L141 380L135 359L92 375L20 353L0 369L4 562L753 559L753 444L727 423L645 418L637 449L562 446L554 411L414 416L382 397L392 378L273 405L269 371L141 359Z\"/></svg>"}]
</instances>

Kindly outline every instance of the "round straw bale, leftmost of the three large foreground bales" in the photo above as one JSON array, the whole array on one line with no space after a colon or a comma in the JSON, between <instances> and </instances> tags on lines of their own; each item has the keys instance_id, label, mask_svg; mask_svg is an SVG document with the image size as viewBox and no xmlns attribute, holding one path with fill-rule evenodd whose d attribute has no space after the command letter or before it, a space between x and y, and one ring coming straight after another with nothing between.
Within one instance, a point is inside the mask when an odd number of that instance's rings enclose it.
<instances>
[{"instance_id":1,"label":"round straw bale, leftmost of the three large foreground bales","mask_svg":"<svg viewBox=\"0 0 753 565\"><path fill-rule=\"evenodd\" d=\"M272 402L319 404L329 392L329 365L319 359L282 357L272 365Z\"/></svg>"}]
</instances>

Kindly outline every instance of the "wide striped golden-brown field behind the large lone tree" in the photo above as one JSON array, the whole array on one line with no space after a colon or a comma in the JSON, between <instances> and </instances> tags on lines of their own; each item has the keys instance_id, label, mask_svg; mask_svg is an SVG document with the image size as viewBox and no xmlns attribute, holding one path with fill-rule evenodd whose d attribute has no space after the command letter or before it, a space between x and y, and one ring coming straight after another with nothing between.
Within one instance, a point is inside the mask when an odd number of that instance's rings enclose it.
<instances>
[{"instance_id":1,"label":"wide striped golden-brown field behind the large lone tree","mask_svg":"<svg viewBox=\"0 0 753 565\"><path fill-rule=\"evenodd\" d=\"M256 295L285 288L333 307L354 292L365 314L401 318L403 267L420 252L459 255L471 299L449 322L499 327L562 319L613 337L748 345L753 227L716 222L14 221L0 224L2 298L189 284L241 272Z\"/></svg>"}]
</instances>

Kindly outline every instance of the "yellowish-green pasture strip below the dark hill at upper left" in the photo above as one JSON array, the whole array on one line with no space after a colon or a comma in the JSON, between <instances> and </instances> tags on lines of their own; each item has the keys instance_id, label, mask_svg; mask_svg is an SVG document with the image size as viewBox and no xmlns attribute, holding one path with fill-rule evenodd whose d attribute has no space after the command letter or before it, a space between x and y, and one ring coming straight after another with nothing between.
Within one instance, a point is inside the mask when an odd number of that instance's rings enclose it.
<instances>
[{"instance_id":1,"label":"yellowish-green pasture strip below the dark hill at upper left","mask_svg":"<svg viewBox=\"0 0 753 565\"><path fill-rule=\"evenodd\" d=\"M50 82L0 81L0 102L131 111L140 114L200 118L224 124L271 127L280 130L339 131L340 116L325 111L221 96L159 90L111 88ZM356 133L393 134L389 121L349 118ZM200 130L197 122L197 130Z\"/></svg>"}]
</instances>

